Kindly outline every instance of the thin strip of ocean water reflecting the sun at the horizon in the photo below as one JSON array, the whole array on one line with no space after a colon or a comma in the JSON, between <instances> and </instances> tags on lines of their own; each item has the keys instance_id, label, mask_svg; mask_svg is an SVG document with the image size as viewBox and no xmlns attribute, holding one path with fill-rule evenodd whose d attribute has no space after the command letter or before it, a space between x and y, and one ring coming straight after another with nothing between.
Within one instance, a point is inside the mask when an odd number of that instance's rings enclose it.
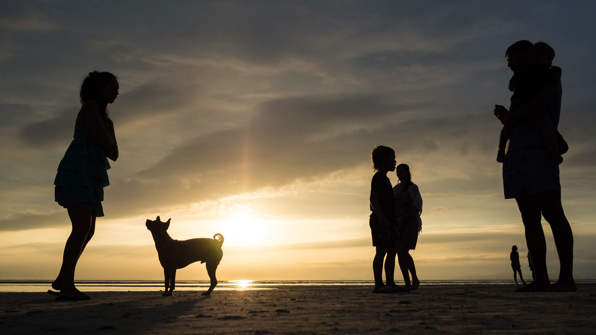
<instances>
[{"instance_id":1,"label":"thin strip of ocean water reflecting the sun at the horizon","mask_svg":"<svg viewBox=\"0 0 596 335\"><path fill-rule=\"evenodd\" d=\"M596 283L596 281L576 281ZM0 292L45 292L52 289L51 280L0 280ZM513 280L424 280L422 285L513 284ZM161 280L79 280L81 291L159 291ZM399 284L399 283L398 283ZM275 290L275 289L358 289L373 287L371 280L228 280L219 281L216 290ZM177 280L176 290L207 290L208 280Z\"/></svg>"}]
</instances>

